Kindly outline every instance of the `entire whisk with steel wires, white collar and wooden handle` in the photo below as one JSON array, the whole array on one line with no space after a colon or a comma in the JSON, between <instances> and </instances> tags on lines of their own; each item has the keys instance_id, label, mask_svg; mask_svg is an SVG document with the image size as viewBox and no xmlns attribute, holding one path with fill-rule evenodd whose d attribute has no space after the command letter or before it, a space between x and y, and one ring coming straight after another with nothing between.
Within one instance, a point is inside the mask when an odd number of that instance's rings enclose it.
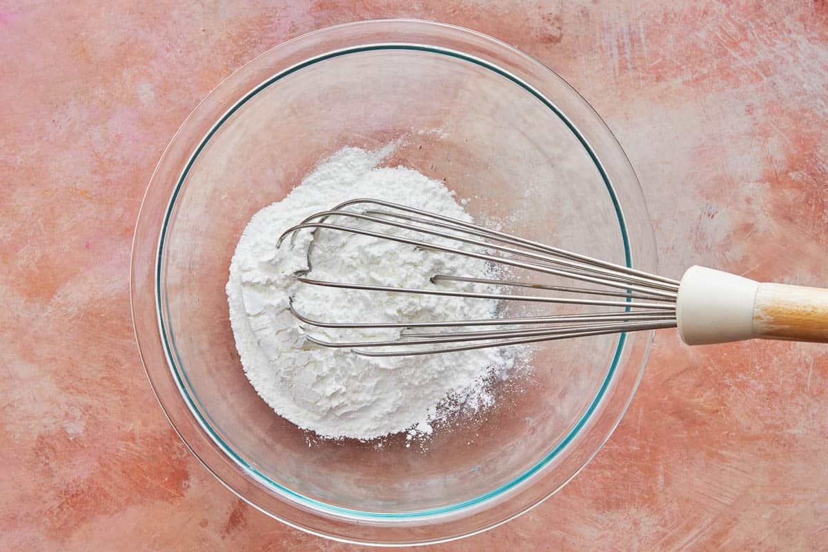
<instances>
[{"instance_id":1,"label":"entire whisk with steel wires, white collar and wooden handle","mask_svg":"<svg viewBox=\"0 0 828 552\"><path fill-rule=\"evenodd\" d=\"M348 210L346 210L348 209ZM357 227L354 221L363 223ZM364 224L364 223L370 224ZM374 227L376 225L376 227ZM373 228L373 229L372 229ZM397 228L402 235L388 233ZM828 289L759 283L703 266L691 266L681 281L605 262L575 252L466 223L455 218L379 199L352 199L334 209L316 213L288 228L291 234L320 229L362 234L433 251L482 259L512 269L572 281L572 286L479 276L431 275L431 282L470 282L488 290L531 288L538 295L414 289L374 286L359 282L321 281L297 272L298 281L311 286L351 290L415 293L556 305L598 307L599 312L522 316L513 318L435 320L427 322L337 322L291 312L302 324L336 329L402 329L387 341L328 342L307 335L318 345L351 348L354 353L391 357L450 353L564 338L583 338L623 332L678 328L688 345L725 343L749 338L787 339L828 343ZM383 232L382 230L386 230ZM310 257L310 253L309 253ZM556 295L545 295L556 292ZM566 296L562 296L565 294Z\"/></svg>"}]
</instances>

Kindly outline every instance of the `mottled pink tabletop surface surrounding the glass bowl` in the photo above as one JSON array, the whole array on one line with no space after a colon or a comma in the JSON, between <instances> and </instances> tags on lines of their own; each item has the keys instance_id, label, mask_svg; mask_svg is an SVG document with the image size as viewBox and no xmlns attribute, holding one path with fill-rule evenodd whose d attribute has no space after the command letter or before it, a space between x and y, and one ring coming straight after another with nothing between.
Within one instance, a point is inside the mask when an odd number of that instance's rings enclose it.
<instances>
[{"instance_id":1,"label":"mottled pink tabletop surface surrounding the glass bowl","mask_svg":"<svg viewBox=\"0 0 828 552\"><path fill-rule=\"evenodd\" d=\"M436 19L537 56L628 152L663 272L828 284L825 2L244 3L0 2L0 550L357 548L200 466L129 316L132 226L172 133L244 61L321 26ZM826 368L826 346L663 331L574 482L431 550L824 550Z\"/></svg>"}]
</instances>

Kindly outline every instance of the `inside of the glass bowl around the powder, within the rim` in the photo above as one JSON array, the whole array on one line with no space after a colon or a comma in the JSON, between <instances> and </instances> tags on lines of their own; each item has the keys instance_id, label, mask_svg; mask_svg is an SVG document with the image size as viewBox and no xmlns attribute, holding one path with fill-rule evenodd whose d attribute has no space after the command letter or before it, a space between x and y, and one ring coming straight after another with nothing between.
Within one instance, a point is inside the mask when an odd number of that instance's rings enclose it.
<instances>
[{"instance_id":1,"label":"inside of the glass bowl around the powder, within the rim","mask_svg":"<svg viewBox=\"0 0 828 552\"><path fill-rule=\"evenodd\" d=\"M383 165L445 181L479 223L627 262L608 184L559 113L479 60L378 47L278 75L225 115L171 201L158 284L172 370L234 461L300 502L414 516L479 501L551 461L625 357L617 335L527 348L513 377L494 384L495 408L461 414L422 444L324 441L276 415L233 343L224 293L233 249L251 216L325 156L392 141Z\"/></svg>"}]
</instances>

